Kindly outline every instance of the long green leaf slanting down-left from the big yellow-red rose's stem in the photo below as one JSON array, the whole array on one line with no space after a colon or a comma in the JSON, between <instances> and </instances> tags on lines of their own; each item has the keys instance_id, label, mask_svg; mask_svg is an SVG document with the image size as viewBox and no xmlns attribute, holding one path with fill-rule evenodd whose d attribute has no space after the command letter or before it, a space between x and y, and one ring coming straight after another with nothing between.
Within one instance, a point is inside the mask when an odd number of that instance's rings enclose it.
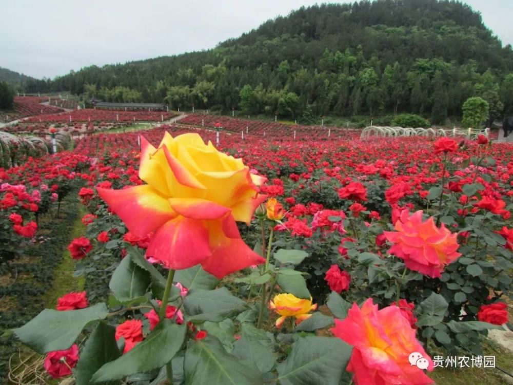
<instances>
[{"instance_id":1,"label":"long green leaf slanting down-left from the big yellow-red rose's stem","mask_svg":"<svg viewBox=\"0 0 513 385\"><path fill-rule=\"evenodd\" d=\"M132 350L103 365L94 373L92 382L116 380L134 373L145 373L162 368L173 359L182 347L186 331L185 324L178 325L167 319L160 322ZM155 354L155 352L159 352L159 354Z\"/></svg>"}]
</instances>

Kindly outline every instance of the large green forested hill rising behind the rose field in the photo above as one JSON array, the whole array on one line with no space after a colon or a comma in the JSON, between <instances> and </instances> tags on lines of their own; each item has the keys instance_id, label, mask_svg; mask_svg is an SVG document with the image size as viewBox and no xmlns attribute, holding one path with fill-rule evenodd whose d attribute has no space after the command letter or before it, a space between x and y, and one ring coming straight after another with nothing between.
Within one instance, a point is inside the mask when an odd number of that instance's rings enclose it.
<instances>
[{"instance_id":1,"label":"large green forested hill rising behind the rose field","mask_svg":"<svg viewBox=\"0 0 513 385\"><path fill-rule=\"evenodd\" d=\"M440 123L476 95L498 116L512 111L513 51L462 3L376 0L301 8L209 51L30 87L282 117L416 112Z\"/></svg>"}]
</instances>

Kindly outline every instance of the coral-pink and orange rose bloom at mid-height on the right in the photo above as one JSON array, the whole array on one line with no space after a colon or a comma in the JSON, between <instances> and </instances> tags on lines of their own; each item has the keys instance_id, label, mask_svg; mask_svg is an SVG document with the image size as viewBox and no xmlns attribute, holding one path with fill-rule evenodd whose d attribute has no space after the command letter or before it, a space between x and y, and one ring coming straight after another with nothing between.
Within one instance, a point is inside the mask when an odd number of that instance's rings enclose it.
<instances>
[{"instance_id":1,"label":"coral-pink and orange rose bloom at mid-height on the right","mask_svg":"<svg viewBox=\"0 0 513 385\"><path fill-rule=\"evenodd\" d=\"M383 232L386 239L394 245L388 253L404 260L409 269L440 278L444 268L456 260L461 254L457 253L457 233L451 233L445 225L438 228L433 218L422 221L422 210L409 215L405 209L394 225L396 232Z\"/></svg>"}]
</instances>

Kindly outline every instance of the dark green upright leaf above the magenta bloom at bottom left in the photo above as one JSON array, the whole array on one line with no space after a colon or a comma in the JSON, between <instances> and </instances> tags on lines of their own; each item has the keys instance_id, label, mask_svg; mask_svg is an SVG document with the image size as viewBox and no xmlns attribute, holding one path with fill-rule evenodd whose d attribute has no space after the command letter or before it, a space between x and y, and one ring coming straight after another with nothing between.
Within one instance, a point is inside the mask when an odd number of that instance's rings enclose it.
<instances>
[{"instance_id":1,"label":"dark green upright leaf above the magenta bloom at bottom left","mask_svg":"<svg viewBox=\"0 0 513 385\"><path fill-rule=\"evenodd\" d=\"M107 362L121 356L115 340L116 328L101 321L91 333L80 359L73 369L76 385L88 385L93 374ZM120 381L105 382L107 385L119 384Z\"/></svg>"}]
</instances>

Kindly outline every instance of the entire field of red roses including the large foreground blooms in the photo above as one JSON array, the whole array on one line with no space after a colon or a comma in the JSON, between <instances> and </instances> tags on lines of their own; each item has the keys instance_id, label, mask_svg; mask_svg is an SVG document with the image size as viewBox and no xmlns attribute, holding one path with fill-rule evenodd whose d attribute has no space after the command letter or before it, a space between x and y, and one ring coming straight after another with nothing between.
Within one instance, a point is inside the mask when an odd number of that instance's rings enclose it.
<instances>
[{"instance_id":1,"label":"entire field of red roses including the large foreground blooms","mask_svg":"<svg viewBox=\"0 0 513 385\"><path fill-rule=\"evenodd\" d=\"M104 112L122 115L72 120ZM421 385L436 357L482 357L490 330L513 329L511 144L180 123L0 169L2 375ZM81 230L47 240L60 210ZM52 245L82 283L43 310L24 296L44 298L64 262L43 279L24 258ZM29 273L40 291L23 293ZM40 355L28 373L9 363L18 342Z\"/></svg>"}]
</instances>

